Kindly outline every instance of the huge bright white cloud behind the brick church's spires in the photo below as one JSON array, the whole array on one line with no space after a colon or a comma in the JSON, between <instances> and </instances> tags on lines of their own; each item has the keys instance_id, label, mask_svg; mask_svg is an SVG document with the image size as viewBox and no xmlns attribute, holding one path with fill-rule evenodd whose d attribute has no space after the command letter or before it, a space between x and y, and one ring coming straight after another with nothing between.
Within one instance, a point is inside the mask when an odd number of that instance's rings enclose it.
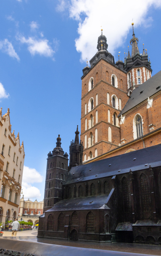
<instances>
[{"instance_id":1,"label":"huge bright white cloud behind the brick church's spires","mask_svg":"<svg viewBox=\"0 0 161 256\"><path fill-rule=\"evenodd\" d=\"M127 37L129 29L132 29L132 19L134 26L150 26L151 17L146 17L150 8L160 8L161 0L59 0L57 11L69 11L69 17L78 22L79 37L75 40L77 52L81 53L81 61L86 58L91 59L96 53L97 39L101 34L107 37L109 52L123 43ZM146 23L147 21L147 23Z\"/></svg>"}]
</instances>

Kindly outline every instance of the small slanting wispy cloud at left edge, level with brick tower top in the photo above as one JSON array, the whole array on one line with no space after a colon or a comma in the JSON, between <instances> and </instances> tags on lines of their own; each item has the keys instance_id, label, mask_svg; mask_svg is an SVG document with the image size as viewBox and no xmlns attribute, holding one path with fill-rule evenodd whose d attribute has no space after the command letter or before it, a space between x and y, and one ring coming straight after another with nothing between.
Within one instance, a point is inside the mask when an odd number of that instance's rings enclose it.
<instances>
[{"instance_id":1,"label":"small slanting wispy cloud at left edge, level with brick tower top","mask_svg":"<svg viewBox=\"0 0 161 256\"><path fill-rule=\"evenodd\" d=\"M10 57L17 59L18 61L20 60L17 53L15 52L14 47L12 46L12 43L9 42L8 39L0 41L0 50L7 53Z\"/></svg>"}]
</instances>

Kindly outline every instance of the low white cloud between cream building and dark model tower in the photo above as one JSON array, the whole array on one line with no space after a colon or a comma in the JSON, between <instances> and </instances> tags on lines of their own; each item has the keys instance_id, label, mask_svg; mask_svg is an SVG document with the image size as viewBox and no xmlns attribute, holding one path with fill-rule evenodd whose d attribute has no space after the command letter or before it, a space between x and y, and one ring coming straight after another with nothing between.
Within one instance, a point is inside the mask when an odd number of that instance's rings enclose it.
<instances>
[{"instance_id":1,"label":"low white cloud between cream building and dark model tower","mask_svg":"<svg viewBox=\"0 0 161 256\"><path fill-rule=\"evenodd\" d=\"M33 183L41 183L43 181L43 176L34 168L29 168L24 165L23 176L22 176L22 191L25 196L25 200L30 198L35 200L41 197L40 190L32 186Z\"/></svg>"}]
</instances>

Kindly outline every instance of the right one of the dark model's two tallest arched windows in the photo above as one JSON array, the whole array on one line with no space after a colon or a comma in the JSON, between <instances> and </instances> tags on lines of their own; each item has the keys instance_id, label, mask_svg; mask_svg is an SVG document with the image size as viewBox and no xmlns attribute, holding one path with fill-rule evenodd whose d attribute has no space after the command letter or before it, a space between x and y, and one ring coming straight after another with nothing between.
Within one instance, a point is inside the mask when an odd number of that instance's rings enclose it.
<instances>
[{"instance_id":1,"label":"right one of the dark model's two tallest arched windows","mask_svg":"<svg viewBox=\"0 0 161 256\"><path fill-rule=\"evenodd\" d=\"M140 176L140 187L141 187L141 201L143 212L149 212L150 202L149 202L149 189L147 185L147 178L145 174Z\"/></svg>"}]
</instances>

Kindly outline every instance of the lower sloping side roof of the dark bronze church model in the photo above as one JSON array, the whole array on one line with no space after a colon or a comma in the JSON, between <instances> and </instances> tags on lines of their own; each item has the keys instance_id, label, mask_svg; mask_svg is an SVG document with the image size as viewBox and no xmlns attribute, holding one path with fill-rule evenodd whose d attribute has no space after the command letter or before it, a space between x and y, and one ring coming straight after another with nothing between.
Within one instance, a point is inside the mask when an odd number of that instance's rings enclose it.
<instances>
[{"instance_id":1,"label":"lower sloping side roof of the dark bronze church model","mask_svg":"<svg viewBox=\"0 0 161 256\"><path fill-rule=\"evenodd\" d=\"M111 195L109 195L110 197ZM110 209L105 203L108 201L108 196L90 196L64 199L59 201L55 206L46 212L57 212L66 210L92 210L92 209Z\"/></svg>"}]
</instances>

